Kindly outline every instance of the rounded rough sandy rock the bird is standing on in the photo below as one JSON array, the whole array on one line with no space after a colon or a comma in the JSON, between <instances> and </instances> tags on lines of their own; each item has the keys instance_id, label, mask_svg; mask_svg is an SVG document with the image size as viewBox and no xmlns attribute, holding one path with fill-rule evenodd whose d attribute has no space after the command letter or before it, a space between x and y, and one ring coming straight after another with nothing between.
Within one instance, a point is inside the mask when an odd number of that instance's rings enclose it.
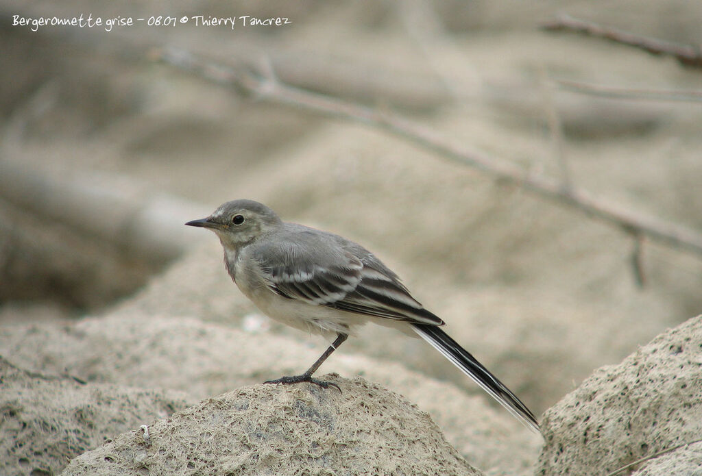
<instances>
[{"instance_id":1,"label":"rounded rough sandy rock the bird is standing on","mask_svg":"<svg viewBox=\"0 0 702 476\"><path fill-rule=\"evenodd\" d=\"M78 475L481 475L404 397L356 378L243 387L75 458Z\"/></svg>"}]
</instances>

